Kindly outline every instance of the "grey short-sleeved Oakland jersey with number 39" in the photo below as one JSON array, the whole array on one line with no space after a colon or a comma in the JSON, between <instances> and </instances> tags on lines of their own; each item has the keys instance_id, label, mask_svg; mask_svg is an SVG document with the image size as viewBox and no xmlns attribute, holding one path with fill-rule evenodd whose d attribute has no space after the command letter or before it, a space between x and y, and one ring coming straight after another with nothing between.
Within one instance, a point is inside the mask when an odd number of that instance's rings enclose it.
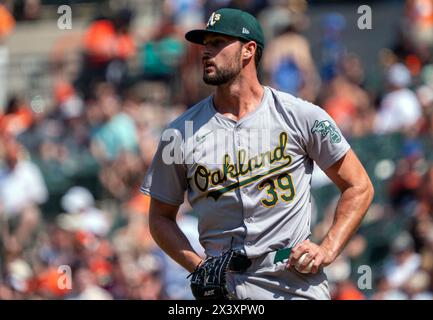
<instances>
[{"instance_id":1,"label":"grey short-sleeved Oakland jersey with number 39","mask_svg":"<svg viewBox=\"0 0 433 320\"><path fill-rule=\"evenodd\" d=\"M172 205L187 191L210 256L233 247L253 258L308 238L313 161L325 170L350 148L323 109L270 87L239 121L210 96L168 128L141 191Z\"/></svg>"}]
</instances>

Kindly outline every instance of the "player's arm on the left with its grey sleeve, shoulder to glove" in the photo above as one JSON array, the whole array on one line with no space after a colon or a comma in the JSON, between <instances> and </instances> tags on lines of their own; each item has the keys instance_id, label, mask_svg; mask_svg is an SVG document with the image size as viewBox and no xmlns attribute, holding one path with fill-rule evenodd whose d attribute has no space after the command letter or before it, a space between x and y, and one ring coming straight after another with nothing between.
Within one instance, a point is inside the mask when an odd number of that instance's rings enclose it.
<instances>
[{"instance_id":1,"label":"player's arm on the left with its grey sleeve, shoulder to glove","mask_svg":"<svg viewBox=\"0 0 433 320\"><path fill-rule=\"evenodd\" d=\"M183 125L181 120L178 126ZM182 157L183 137L175 127L164 130L140 190L151 198L149 227L153 239L174 261L192 272L201 258L176 223L188 182Z\"/></svg>"}]
</instances>

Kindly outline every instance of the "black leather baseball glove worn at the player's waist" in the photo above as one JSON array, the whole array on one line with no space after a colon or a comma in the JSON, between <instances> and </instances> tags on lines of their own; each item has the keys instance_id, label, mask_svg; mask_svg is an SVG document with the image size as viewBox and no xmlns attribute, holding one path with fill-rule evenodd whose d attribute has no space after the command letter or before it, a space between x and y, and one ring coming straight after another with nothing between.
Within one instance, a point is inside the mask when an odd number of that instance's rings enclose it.
<instances>
[{"instance_id":1,"label":"black leather baseball glove worn at the player's waist","mask_svg":"<svg viewBox=\"0 0 433 320\"><path fill-rule=\"evenodd\" d=\"M228 250L219 257L208 257L188 276L197 300L232 299L227 290L226 275L233 254L233 250Z\"/></svg>"}]
</instances>

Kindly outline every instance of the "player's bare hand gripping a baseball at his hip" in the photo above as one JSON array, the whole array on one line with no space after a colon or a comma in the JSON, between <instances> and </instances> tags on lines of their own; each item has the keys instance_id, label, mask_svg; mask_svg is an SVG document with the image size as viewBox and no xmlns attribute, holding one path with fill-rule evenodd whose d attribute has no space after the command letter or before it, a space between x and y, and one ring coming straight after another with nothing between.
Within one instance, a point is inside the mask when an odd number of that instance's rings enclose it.
<instances>
[{"instance_id":1,"label":"player's bare hand gripping a baseball at his hip","mask_svg":"<svg viewBox=\"0 0 433 320\"><path fill-rule=\"evenodd\" d=\"M295 267L304 253L307 253L307 255L302 263L298 265L298 271L303 271L314 260L311 273L317 273L319 268L326 267L335 259L324 248L307 239L292 248L290 258L287 261L287 268Z\"/></svg>"}]
</instances>

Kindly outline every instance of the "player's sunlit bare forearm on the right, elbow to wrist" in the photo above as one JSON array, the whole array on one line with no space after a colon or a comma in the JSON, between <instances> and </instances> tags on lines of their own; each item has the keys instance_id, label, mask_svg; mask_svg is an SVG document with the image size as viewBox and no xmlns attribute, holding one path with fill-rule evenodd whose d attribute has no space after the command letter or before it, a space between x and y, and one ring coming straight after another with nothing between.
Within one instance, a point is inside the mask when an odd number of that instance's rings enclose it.
<instances>
[{"instance_id":1,"label":"player's sunlit bare forearm on the right, elbow to wrist","mask_svg":"<svg viewBox=\"0 0 433 320\"><path fill-rule=\"evenodd\" d=\"M349 187L342 192L335 210L334 222L320 245L328 252L332 261L358 229L371 204L373 194L370 181Z\"/></svg>"}]
</instances>

